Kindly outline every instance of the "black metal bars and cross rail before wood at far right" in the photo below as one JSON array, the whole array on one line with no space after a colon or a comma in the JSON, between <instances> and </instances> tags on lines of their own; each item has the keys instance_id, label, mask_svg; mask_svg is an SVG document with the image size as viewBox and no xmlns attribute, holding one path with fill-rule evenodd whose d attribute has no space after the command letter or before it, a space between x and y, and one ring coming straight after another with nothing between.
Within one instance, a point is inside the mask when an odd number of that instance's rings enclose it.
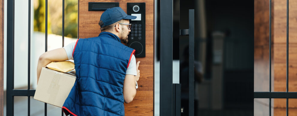
<instances>
[{"instance_id":1,"label":"black metal bars and cross rail before wood at far right","mask_svg":"<svg viewBox=\"0 0 297 116\"><path fill-rule=\"evenodd\" d=\"M269 92L254 92L254 98L269 98L269 116L271 116L271 98L286 98L286 115L288 116L288 101L296 99L297 92L289 92L289 0L286 6L286 92L271 92L271 0L269 0Z\"/></svg>"}]
</instances>

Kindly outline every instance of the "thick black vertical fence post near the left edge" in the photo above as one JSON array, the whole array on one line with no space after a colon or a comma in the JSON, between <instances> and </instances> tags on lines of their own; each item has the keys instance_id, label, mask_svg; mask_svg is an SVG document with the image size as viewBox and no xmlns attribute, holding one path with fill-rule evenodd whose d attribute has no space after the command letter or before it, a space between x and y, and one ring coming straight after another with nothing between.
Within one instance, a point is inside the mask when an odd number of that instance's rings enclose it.
<instances>
[{"instance_id":1,"label":"thick black vertical fence post near the left edge","mask_svg":"<svg viewBox=\"0 0 297 116\"><path fill-rule=\"evenodd\" d=\"M14 88L14 0L7 0L7 84L6 84L6 115L13 116Z\"/></svg>"}]
</instances>

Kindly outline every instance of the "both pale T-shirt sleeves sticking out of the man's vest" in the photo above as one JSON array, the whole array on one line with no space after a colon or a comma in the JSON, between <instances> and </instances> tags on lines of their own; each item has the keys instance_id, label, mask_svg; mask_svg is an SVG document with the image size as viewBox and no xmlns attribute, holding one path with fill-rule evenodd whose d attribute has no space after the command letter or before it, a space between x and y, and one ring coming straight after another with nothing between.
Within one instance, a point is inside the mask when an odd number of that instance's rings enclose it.
<instances>
[{"instance_id":1,"label":"both pale T-shirt sleeves sticking out of the man's vest","mask_svg":"<svg viewBox=\"0 0 297 116\"><path fill-rule=\"evenodd\" d=\"M63 48L65 49L67 53L68 60L73 60L72 52L75 47L76 42L69 43L67 46L64 46ZM126 75L134 75L137 76L137 71L136 71L136 59L135 56L132 55L130 64L126 70Z\"/></svg>"}]
</instances>

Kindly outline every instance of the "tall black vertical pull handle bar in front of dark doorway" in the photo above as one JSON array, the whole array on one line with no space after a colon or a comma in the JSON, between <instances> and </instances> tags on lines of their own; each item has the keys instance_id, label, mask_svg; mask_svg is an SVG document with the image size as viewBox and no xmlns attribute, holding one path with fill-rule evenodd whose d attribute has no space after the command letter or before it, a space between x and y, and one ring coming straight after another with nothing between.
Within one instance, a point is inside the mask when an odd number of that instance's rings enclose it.
<instances>
[{"instance_id":1,"label":"tall black vertical pull handle bar in front of dark doorway","mask_svg":"<svg viewBox=\"0 0 297 116\"><path fill-rule=\"evenodd\" d=\"M194 116L194 9L189 10L189 116Z\"/></svg>"}]
</instances>

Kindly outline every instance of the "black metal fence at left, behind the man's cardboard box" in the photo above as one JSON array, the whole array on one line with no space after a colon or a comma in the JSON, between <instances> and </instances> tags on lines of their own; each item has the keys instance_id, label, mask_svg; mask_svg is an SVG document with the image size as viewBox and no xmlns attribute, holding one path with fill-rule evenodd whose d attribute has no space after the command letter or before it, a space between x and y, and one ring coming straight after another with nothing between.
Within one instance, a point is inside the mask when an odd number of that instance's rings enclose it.
<instances>
[{"instance_id":1,"label":"black metal fence at left, behind the man's cardboard box","mask_svg":"<svg viewBox=\"0 0 297 116\"><path fill-rule=\"evenodd\" d=\"M45 0L45 52L47 51L47 6L48 0ZM62 10L62 47L64 46L64 3ZM28 116L30 115L30 97L34 96L35 90L30 89L30 22L31 22L31 0L28 0L29 5L29 19L28 19L28 89L18 90L14 89L14 7L15 0L7 0L7 94L6 94L6 115L13 116L13 102L14 96L27 96L28 97ZM44 104L44 115L47 115L47 104ZM61 115L63 116L61 110Z\"/></svg>"}]
</instances>

